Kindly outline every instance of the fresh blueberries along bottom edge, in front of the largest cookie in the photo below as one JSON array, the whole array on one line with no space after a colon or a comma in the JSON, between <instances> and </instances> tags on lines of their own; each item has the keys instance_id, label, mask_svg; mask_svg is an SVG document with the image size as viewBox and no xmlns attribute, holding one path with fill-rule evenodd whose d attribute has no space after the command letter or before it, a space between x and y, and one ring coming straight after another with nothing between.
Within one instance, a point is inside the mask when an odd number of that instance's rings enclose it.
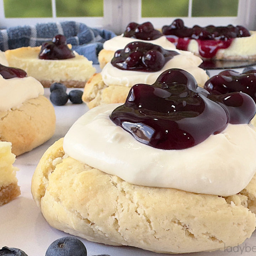
<instances>
[{"instance_id":1,"label":"fresh blueberries along bottom edge, in front of the largest cookie","mask_svg":"<svg viewBox=\"0 0 256 256\"><path fill-rule=\"evenodd\" d=\"M0 256L28 256L25 252L17 248L2 247ZM73 236L65 236L55 240L46 251L46 256L87 256L85 245ZM96 255L95 255L96 256ZM97 256L110 256L100 254Z\"/></svg>"}]
</instances>

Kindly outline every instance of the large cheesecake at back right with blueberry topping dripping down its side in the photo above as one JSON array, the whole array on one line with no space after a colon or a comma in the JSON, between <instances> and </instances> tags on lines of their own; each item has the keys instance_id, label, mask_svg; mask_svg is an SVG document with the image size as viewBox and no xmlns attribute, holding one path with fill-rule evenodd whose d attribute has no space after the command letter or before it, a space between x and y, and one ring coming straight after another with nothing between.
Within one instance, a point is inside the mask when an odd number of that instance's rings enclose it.
<instances>
[{"instance_id":1,"label":"large cheesecake at back right with blueberry topping dripping down its side","mask_svg":"<svg viewBox=\"0 0 256 256\"><path fill-rule=\"evenodd\" d=\"M163 26L162 33L177 49L188 50L202 59L256 59L256 31L243 26L186 27L181 19Z\"/></svg>"}]
</instances>

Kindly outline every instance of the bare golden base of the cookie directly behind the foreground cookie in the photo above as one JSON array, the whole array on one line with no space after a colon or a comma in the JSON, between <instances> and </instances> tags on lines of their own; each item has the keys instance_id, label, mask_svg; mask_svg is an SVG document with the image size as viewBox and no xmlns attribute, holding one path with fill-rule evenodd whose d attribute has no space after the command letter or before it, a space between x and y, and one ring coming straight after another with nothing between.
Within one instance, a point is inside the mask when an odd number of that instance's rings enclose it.
<instances>
[{"instance_id":1,"label":"bare golden base of the cookie directly behind the foreground cookie","mask_svg":"<svg viewBox=\"0 0 256 256\"><path fill-rule=\"evenodd\" d=\"M94 74L86 83L82 100L89 108L103 104L124 103L130 87L121 85L107 86L100 73Z\"/></svg>"}]
</instances>

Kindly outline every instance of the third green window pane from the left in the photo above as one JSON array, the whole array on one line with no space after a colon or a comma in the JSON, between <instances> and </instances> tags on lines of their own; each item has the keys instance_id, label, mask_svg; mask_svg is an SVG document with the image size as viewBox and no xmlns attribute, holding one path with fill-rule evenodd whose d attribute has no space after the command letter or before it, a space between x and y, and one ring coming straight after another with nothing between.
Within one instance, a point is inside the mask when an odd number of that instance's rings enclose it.
<instances>
[{"instance_id":1,"label":"third green window pane from the left","mask_svg":"<svg viewBox=\"0 0 256 256\"><path fill-rule=\"evenodd\" d=\"M142 0L142 17L187 17L188 0Z\"/></svg>"}]
</instances>

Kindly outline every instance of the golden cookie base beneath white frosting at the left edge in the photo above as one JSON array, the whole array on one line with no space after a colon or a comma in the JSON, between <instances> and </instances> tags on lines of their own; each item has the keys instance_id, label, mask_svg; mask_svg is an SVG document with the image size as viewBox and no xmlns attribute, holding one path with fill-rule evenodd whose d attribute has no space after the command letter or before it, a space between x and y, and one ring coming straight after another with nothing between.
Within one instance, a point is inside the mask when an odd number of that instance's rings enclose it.
<instances>
[{"instance_id":1,"label":"golden cookie base beneath white frosting at the left edge","mask_svg":"<svg viewBox=\"0 0 256 256\"><path fill-rule=\"evenodd\" d=\"M23 154L52 137L55 112L50 101L40 95L22 106L0 111L0 141L12 143L12 153Z\"/></svg>"}]
</instances>

